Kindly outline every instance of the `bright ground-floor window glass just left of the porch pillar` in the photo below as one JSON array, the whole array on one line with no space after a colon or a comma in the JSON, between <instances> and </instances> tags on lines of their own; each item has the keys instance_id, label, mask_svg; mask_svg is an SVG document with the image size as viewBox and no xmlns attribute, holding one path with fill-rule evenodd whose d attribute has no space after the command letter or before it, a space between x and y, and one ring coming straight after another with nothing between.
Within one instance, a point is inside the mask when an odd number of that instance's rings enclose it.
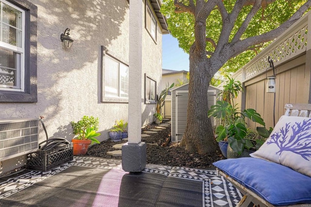
<instances>
[{"instance_id":1,"label":"bright ground-floor window glass just left of the porch pillar","mask_svg":"<svg viewBox=\"0 0 311 207\"><path fill-rule=\"evenodd\" d=\"M128 102L129 68L107 53L103 57L104 102Z\"/></svg>"}]
</instances>

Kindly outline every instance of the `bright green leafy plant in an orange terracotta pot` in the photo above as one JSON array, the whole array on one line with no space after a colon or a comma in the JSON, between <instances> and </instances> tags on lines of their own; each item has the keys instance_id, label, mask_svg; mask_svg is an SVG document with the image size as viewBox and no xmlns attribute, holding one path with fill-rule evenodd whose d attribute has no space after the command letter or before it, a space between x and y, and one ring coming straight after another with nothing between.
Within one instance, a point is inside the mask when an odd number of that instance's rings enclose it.
<instances>
[{"instance_id":1,"label":"bright green leafy plant in an orange terracotta pot","mask_svg":"<svg viewBox=\"0 0 311 207\"><path fill-rule=\"evenodd\" d=\"M75 137L71 139L73 155L85 155L91 142L100 143L95 138L101 135L97 133L99 127L98 118L84 116L78 122L71 121L71 126L73 134L75 134Z\"/></svg>"}]
</instances>

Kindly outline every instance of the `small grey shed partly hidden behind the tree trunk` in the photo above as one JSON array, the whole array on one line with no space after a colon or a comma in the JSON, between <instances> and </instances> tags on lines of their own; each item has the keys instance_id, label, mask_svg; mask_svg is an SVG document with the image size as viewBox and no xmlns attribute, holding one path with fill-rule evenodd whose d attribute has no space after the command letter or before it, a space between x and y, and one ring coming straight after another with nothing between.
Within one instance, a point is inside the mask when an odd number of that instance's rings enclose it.
<instances>
[{"instance_id":1,"label":"small grey shed partly hidden behind the tree trunk","mask_svg":"<svg viewBox=\"0 0 311 207\"><path fill-rule=\"evenodd\" d=\"M208 87L208 106L216 104L220 89L215 86ZM173 88L172 92L172 141L181 141L186 128L189 84ZM215 125L211 117L212 125Z\"/></svg>"}]
</instances>

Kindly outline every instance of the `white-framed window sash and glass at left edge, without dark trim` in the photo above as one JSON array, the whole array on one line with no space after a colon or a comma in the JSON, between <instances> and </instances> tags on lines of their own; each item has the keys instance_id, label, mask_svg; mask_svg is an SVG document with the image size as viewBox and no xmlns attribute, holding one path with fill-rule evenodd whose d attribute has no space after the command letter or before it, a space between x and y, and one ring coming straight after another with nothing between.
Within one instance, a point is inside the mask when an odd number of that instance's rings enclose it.
<instances>
[{"instance_id":1,"label":"white-framed window sash and glass at left edge, without dark trim","mask_svg":"<svg viewBox=\"0 0 311 207\"><path fill-rule=\"evenodd\" d=\"M24 91L25 12L0 1L0 89Z\"/></svg>"}]
</instances>

